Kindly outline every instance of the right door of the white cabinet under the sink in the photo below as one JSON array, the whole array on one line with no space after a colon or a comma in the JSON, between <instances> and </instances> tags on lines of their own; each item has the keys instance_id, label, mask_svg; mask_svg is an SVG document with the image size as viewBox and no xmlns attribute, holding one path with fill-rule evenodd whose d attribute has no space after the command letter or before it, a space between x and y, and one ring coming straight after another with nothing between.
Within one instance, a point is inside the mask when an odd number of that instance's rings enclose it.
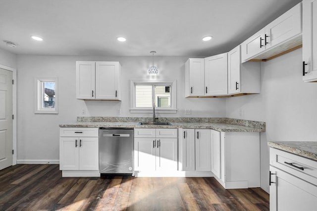
<instances>
[{"instance_id":1,"label":"right door of the white cabinet under the sink","mask_svg":"<svg viewBox=\"0 0 317 211\"><path fill-rule=\"evenodd\" d=\"M177 171L177 138L157 139L156 170Z\"/></svg>"}]
</instances>

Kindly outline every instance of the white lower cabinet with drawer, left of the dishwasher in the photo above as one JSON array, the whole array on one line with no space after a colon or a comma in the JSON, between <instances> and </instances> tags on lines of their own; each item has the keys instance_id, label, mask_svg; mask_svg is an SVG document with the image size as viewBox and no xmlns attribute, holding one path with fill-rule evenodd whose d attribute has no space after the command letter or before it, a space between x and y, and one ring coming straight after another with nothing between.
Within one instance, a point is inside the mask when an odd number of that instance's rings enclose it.
<instances>
[{"instance_id":1,"label":"white lower cabinet with drawer, left of the dishwasher","mask_svg":"<svg viewBox=\"0 0 317 211\"><path fill-rule=\"evenodd\" d=\"M98 135L98 128L60 128L62 176L100 176Z\"/></svg>"}]
</instances>

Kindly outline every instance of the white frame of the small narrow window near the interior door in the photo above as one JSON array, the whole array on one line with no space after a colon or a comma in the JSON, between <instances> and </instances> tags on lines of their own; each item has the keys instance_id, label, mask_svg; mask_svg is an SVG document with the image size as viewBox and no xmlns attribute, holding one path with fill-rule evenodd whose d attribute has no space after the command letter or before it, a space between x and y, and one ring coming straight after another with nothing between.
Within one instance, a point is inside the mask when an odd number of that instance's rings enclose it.
<instances>
[{"instance_id":1,"label":"white frame of the small narrow window near the interior door","mask_svg":"<svg viewBox=\"0 0 317 211\"><path fill-rule=\"evenodd\" d=\"M42 107L43 103L43 82L54 82L55 83L55 106ZM57 77L45 77L45 78L35 78L35 113L58 113L58 79Z\"/></svg>"}]
</instances>

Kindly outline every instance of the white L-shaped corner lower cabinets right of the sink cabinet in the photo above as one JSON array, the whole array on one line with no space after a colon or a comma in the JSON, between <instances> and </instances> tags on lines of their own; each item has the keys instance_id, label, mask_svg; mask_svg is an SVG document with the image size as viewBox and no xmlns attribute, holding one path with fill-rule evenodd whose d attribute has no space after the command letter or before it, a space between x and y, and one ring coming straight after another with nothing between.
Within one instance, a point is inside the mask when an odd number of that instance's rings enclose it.
<instances>
[{"instance_id":1,"label":"white L-shaped corner lower cabinets right of the sink cabinet","mask_svg":"<svg viewBox=\"0 0 317 211\"><path fill-rule=\"evenodd\" d=\"M179 129L179 170L211 171L226 189L260 187L260 133Z\"/></svg>"}]
</instances>

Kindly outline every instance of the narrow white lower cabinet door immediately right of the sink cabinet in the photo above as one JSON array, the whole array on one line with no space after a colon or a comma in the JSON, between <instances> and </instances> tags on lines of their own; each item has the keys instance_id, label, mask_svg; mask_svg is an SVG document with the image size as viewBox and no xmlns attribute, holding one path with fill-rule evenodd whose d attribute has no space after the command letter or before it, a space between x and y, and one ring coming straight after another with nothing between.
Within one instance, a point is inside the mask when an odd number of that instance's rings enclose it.
<instances>
[{"instance_id":1,"label":"narrow white lower cabinet door immediately right of the sink cabinet","mask_svg":"<svg viewBox=\"0 0 317 211\"><path fill-rule=\"evenodd\" d=\"M183 129L182 134L182 170L195 171L195 129Z\"/></svg>"}]
</instances>

